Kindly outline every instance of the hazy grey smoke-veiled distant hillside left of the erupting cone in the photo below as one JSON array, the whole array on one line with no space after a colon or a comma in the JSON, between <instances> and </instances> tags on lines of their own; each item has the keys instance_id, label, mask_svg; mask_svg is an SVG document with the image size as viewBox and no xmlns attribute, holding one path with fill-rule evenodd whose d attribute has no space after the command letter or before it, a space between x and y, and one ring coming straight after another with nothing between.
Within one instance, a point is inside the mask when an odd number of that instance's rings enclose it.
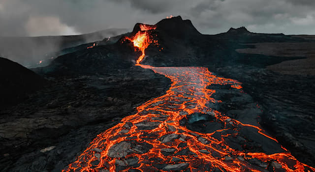
<instances>
[{"instance_id":1,"label":"hazy grey smoke-veiled distant hillside left of the erupting cone","mask_svg":"<svg viewBox=\"0 0 315 172\"><path fill-rule=\"evenodd\" d=\"M0 56L32 66L49 59L54 52L81 44L103 40L105 37L126 33L127 29L105 29L72 36L0 37Z\"/></svg>"}]
</instances>

